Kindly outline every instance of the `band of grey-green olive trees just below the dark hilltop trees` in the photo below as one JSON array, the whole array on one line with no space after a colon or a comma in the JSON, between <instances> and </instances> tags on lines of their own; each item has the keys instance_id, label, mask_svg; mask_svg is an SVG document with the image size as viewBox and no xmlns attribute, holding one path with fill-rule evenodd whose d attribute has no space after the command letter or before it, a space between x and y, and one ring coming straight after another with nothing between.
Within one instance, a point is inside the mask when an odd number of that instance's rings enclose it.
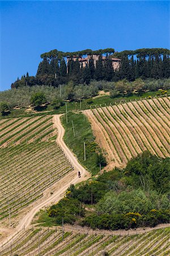
<instances>
[{"instance_id":1,"label":"band of grey-green olive trees just below the dark hilltop trees","mask_svg":"<svg viewBox=\"0 0 170 256\"><path fill-rule=\"evenodd\" d=\"M24 81L24 80L23 80ZM23 82L24 85L24 82ZM65 101L79 101L80 99L87 99L89 105L93 103L93 96L99 93L99 90L110 91L111 98L117 97L131 97L142 96L147 90L150 92L158 91L156 94L165 94L167 89L170 88L170 80L153 80L153 79L137 79L133 82L129 82L124 79L118 82L108 81L91 81L89 85L79 84L74 85L73 82L60 85L59 87L48 85L36 85L36 86L19 86L18 89L13 88L0 92L0 101L7 102L10 109L15 106L28 107L31 104L31 97L35 93L44 93L46 101L49 104L59 100ZM62 104L61 104L62 105ZM53 105L54 106L54 105Z\"/></svg>"}]
</instances>

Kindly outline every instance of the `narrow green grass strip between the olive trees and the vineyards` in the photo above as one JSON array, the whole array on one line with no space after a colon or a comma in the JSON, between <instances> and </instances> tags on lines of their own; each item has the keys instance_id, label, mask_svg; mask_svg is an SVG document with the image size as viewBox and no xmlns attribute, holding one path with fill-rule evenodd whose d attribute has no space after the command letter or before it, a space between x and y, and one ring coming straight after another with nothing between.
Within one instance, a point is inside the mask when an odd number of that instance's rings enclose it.
<instances>
[{"instance_id":1,"label":"narrow green grass strip between the olive trees and the vineyards","mask_svg":"<svg viewBox=\"0 0 170 256\"><path fill-rule=\"evenodd\" d=\"M130 100L140 100L141 98L145 98L145 97L148 97L148 96L151 96L151 97L155 97L156 94L158 92L144 92L142 93L140 96L137 95L137 94L131 94L131 95L128 95L128 96L118 96L116 98L111 98L110 96L101 96L101 97L97 97L97 98L93 98L92 99L92 107L95 108L95 105L98 105L100 106L100 104L102 106L104 106L105 104L109 105L109 104L115 104L115 102L120 102L120 101L130 101ZM167 96L170 95L170 90L167 90ZM81 100L81 109L90 109L90 104L87 103L88 99L82 99ZM73 111L73 110L80 110L80 101L73 101L73 102L66 102L67 104L67 110L68 111ZM26 113L25 112L25 108L22 108L22 109L12 109L10 110L10 112L6 113L6 115L0 115L0 119L2 118L14 118L14 117L31 117L31 116L37 116L37 115L46 115L46 114L49 114L49 115L52 115L52 114L63 114L66 112L66 106L61 106L59 109L56 109L54 110L52 108L51 105L48 105L46 109L39 109L42 110L42 111L46 111L46 113L36 113L36 114L33 114L33 113ZM49 111L49 112L48 112Z\"/></svg>"}]
</instances>

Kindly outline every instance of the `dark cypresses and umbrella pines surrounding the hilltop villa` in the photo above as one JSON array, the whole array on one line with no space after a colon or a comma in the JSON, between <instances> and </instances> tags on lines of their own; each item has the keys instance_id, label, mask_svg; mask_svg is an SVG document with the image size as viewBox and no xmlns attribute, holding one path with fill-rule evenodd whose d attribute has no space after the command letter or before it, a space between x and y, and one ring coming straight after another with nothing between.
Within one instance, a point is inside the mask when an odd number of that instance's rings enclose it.
<instances>
[{"instance_id":1,"label":"dark cypresses and umbrella pines surrounding the hilltop villa","mask_svg":"<svg viewBox=\"0 0 170 256\"><path fill-rule=\"evenodd\" d=\"M92 55L99 55L99 60L94 64ZM91 55L86 67L79 63L78 58L73 56ZM105 60L102 56L105 55ZM43 53L42 61L37 69L36 76L22 76L11 84L11 88L33 85L52 85L58 87L59 84L67 84L73 81L74 85L90 84L91 80L119 81L126 79L165 79L170 76L170 51L163 48L137 49L135 51L114 52L114 49L100 49L92 51L86 49L79 52L61 52L57 50ZM68 65L65 57L69 56ZM113 69L111 57L121 59L120 68Z\"/></svg>"}]
</instances>

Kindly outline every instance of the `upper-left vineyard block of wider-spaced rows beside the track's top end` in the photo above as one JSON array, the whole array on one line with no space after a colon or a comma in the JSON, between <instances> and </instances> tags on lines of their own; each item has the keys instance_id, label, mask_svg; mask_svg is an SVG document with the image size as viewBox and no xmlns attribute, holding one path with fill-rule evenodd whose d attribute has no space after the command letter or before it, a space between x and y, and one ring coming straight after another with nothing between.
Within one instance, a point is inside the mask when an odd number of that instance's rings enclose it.
<instances>
[{"instance_id":1,"label":"upper-left vineyard block of wider-spaced rows beside the track's top end","mask_svg":"<svg viewBox=\"0 0 170 256\"><path fill-rule=\"evenodd\" d=\"M45 141L55 134L50 115L12 118L0 123L0 146Z\"/></svg>"}]
</instances>

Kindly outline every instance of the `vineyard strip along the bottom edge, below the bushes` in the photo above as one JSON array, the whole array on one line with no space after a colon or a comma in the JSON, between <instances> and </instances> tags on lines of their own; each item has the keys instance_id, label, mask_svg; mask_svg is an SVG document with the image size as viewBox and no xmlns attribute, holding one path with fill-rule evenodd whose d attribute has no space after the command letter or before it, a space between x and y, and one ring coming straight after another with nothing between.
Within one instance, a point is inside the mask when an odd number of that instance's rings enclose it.
<instances>
[{"instance_id":1,"label":"vineyard strip along the bottom edge, below the bushes","mask_svg":"<svg viewBox=\"0 0 170 256\"><path fill-rule=\"evenodd\" d=\"M92 256L101 255L169 255L169 228L152 230L142 234L117 235L104 233L64 232L60 228L32 228L18 234L17 240L1 247L1 256Z\"/></svg>"}]
</instances>

